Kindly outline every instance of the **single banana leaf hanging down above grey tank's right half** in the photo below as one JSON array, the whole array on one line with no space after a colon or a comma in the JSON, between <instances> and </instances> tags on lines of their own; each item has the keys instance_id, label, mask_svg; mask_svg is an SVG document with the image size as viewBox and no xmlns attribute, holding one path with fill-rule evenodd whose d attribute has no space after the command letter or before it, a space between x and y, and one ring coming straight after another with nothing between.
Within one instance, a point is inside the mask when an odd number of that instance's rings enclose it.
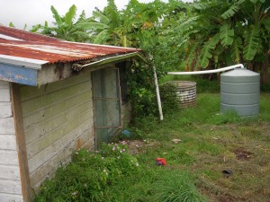
<instances>
[{"instance_id":1,"label":"single banana leaf hanging down above grey tank's right half","mask_svg":"<svg viewBox=\"0 0 270 202\"><path fill-rule=\"evenodd\" d=\"M259 33L260 29L258 25L251 26L250 29L246 31L243 53L244 58L247 60L252 60L257 54L260 37Z\"/></svg>"}]
</instances>

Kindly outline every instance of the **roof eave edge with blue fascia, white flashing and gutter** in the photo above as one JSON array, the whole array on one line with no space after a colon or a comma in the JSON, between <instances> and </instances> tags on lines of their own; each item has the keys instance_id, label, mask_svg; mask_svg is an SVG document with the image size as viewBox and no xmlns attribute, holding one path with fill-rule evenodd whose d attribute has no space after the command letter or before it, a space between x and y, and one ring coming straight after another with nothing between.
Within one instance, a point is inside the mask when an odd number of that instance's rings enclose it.
<instances>
[{"instance_id":1,"label":"roof eave edge with blue fascia, white flashing and gutter","mask_svg":"<svg viewBox=\"0 0 270 202\"><path fill-rule=\"evenodd\" d=\"M96 61L84 65L79 65L77 62L74 64L64 63L66 65L60 70L64 75L58 75L58 66L49 64L48 61L0 55L0 80L40 86L66 79L74 75L74 70L87 69L88 71L94 71L96 69L92 68L94 66L105 66L106 64L117 63L130 57L137 57L147 63L146 58L138 51L119 56L95 58ZM74 69L74 65L79 68Z\"/></svg>"}]
</instances>

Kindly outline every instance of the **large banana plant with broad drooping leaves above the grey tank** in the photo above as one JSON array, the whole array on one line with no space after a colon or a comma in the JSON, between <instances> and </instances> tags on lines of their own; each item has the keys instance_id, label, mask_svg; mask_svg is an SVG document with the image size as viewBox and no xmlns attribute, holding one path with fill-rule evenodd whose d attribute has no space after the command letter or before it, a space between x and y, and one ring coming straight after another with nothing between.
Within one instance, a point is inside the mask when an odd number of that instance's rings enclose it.
<instances>
[{"instance_id":1,"label":"large banana plant with broad drooping leaves above the grey tank","mask_svg":"<svg viewBox=\"0 0 270 202\"><path fill-rule=\"evenodd\" d=\"M176 26L178 34L186 41L187 68L213 68L240 62L250 64L257 58L267 57L270 1L201 0L192 7L193 19L186 18L178 28ZM189 26L183 26L187 22ZM215 65L210 66L210 61Z\"/></svg>"}]
</instances>

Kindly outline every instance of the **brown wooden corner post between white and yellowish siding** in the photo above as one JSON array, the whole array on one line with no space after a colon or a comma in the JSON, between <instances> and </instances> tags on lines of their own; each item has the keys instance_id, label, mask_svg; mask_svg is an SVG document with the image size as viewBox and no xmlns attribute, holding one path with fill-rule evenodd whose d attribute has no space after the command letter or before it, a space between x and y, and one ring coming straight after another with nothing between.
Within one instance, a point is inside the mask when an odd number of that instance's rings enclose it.
<instances>
[{"instance_id":1,"label":"brown wooden corner post between white and yellowish siding","mask_svg":"<svg viewBox=\"0 0 270 202\"><path fill-rule=\"evenodd\" d=\"M20 176L23 190L23 201L29 202L32 200L31 181L23 128L23 112L20 98L20 86L18 83L11 84L11 96L13 103L14 126L20 166Z\"/></svg>"}]
</instances>

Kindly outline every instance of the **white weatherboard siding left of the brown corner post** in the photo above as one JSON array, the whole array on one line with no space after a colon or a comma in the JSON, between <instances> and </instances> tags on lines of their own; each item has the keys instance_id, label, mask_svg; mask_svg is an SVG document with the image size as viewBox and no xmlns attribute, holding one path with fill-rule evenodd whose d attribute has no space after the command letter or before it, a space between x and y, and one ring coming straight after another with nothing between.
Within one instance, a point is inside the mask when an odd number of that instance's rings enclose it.
<instances>
[{"instance_id":1,"label":"white weatherboard siding left of the brown corner post","mask_svg":"<svg viewBox=\"0 0 270 202\"><path fill-rule=\"evenodd\" d=\"M23 201L10 85L0 81L0 202Z\"/></svg>"}]
</instances>

